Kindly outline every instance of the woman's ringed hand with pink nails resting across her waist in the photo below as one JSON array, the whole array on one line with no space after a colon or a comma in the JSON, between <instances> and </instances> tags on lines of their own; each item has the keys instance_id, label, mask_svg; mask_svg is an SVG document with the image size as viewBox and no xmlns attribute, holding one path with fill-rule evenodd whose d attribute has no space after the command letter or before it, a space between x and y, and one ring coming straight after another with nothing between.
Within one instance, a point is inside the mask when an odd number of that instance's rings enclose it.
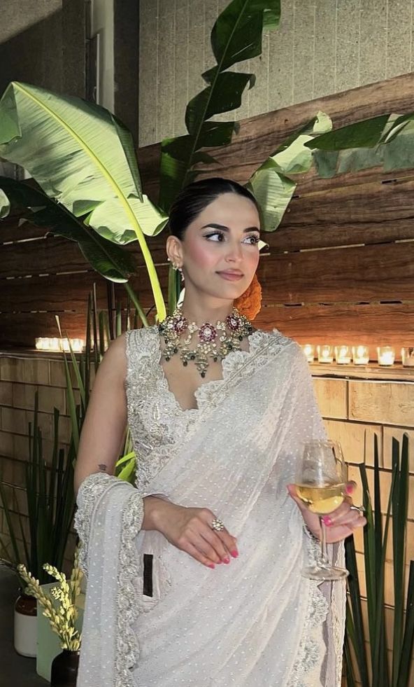
<instances>
[{"instance_id":1,"label":"woman's ringed hand with pink nails resting across her waist","mask_svg":"<svg viewBox=\"0 0 414 687\"><path fill-rule=\"evenodd\" d=\"M199 563L214 568L238 557L236 537L225 528L221 532L211 529L216 516L208 508L186 508L158 497L145 497L144 504L143 529L157 529Z\"/></svg>"}]
</instances>

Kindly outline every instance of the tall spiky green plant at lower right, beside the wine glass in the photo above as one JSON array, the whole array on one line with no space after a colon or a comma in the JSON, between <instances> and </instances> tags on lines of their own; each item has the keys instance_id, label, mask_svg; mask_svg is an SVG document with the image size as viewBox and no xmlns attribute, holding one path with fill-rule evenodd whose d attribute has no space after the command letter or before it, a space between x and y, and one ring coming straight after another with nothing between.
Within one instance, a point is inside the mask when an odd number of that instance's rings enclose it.
<instances>
[{"instance_id":1,"label":"tall spiky green plant at lower right, beside the wine glass","mask_svg":"<svg viewBox=\"0 0 414 687\"><path fill-rule=\"evenodd\" d=\"M392 485L385 515L380 494L378 440L374 437L373 497L367 471L359 467L367 525L364 529L364 569L368 621L364 627L357 556L352 537L345 541L348 599L345 632L345 672L348 687L410 687L414 645L414 561L406 588L406 523L408 514L408 436L392 439ZM385 560L392 533L394 620L392 637L385 624ZM368 644L369 643L369 644ZM387 647L392 648L389 656Z\"/></svg>"}]
</instances>

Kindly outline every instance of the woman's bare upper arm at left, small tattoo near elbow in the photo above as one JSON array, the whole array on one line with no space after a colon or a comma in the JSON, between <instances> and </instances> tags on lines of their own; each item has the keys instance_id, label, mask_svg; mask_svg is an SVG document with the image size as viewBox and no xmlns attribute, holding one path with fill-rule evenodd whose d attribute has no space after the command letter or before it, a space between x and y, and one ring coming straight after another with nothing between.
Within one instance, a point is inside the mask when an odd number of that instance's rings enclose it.
<instances>
[{"instance_id":1,"label":"woman's bare upper arm at left, small tattoo near elbow","mask_svg":"<svg viewBox=\"0 0 414 687\"><path fill-rule=\"evenodd\" d=\"M127 425L127 398L124 381L127 374L125 335L113 341L94 381L83 423L74 476L74 489L96 472L113 474Z\"/></svg>"}]
</instances>

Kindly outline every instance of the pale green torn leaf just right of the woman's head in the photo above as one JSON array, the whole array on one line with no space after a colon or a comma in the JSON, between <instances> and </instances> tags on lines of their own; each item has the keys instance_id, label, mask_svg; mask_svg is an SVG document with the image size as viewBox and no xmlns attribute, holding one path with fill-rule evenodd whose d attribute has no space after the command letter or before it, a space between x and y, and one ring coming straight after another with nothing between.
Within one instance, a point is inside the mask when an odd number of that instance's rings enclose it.
<instances>
[{"instance_id":1,"label":"pale green torn leaf just right of the woman's head","mask_svg":"<svg viewBox=\"0 0 414 687\"><path fill-rule=\"evenodd\" d=\"M297 187L297 182L287 174L304 174L313 165L312 152L306 148L306 143L331 128L329 116L318 112L284 141L250 177L247 186L261 208L264 231L278 228Z\"/></svg>"}]
</instances>

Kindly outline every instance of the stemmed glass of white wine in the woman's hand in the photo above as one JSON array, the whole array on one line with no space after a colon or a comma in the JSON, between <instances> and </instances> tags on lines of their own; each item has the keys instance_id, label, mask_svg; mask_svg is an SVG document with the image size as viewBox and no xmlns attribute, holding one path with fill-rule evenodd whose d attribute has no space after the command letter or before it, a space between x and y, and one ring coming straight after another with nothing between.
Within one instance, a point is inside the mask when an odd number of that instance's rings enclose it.
<instances>
[{"instance_id":1,"label":"stemmed glass of white wine in the woman's hand","mask_svg":"<svg viewBox=\"0 0 414 687\"><path fill-rule=\"evenodd\" d=\"M320 521L320 555L315 565L302 570L311 580L341 580L348 576L345 568L332 567L327 556L326 530L323 516L341 506L345 498L346 465L341 445L336 441L308 441L299 458L296 471L296 490L301 501Z\"/></svg>"}]
</instances>

